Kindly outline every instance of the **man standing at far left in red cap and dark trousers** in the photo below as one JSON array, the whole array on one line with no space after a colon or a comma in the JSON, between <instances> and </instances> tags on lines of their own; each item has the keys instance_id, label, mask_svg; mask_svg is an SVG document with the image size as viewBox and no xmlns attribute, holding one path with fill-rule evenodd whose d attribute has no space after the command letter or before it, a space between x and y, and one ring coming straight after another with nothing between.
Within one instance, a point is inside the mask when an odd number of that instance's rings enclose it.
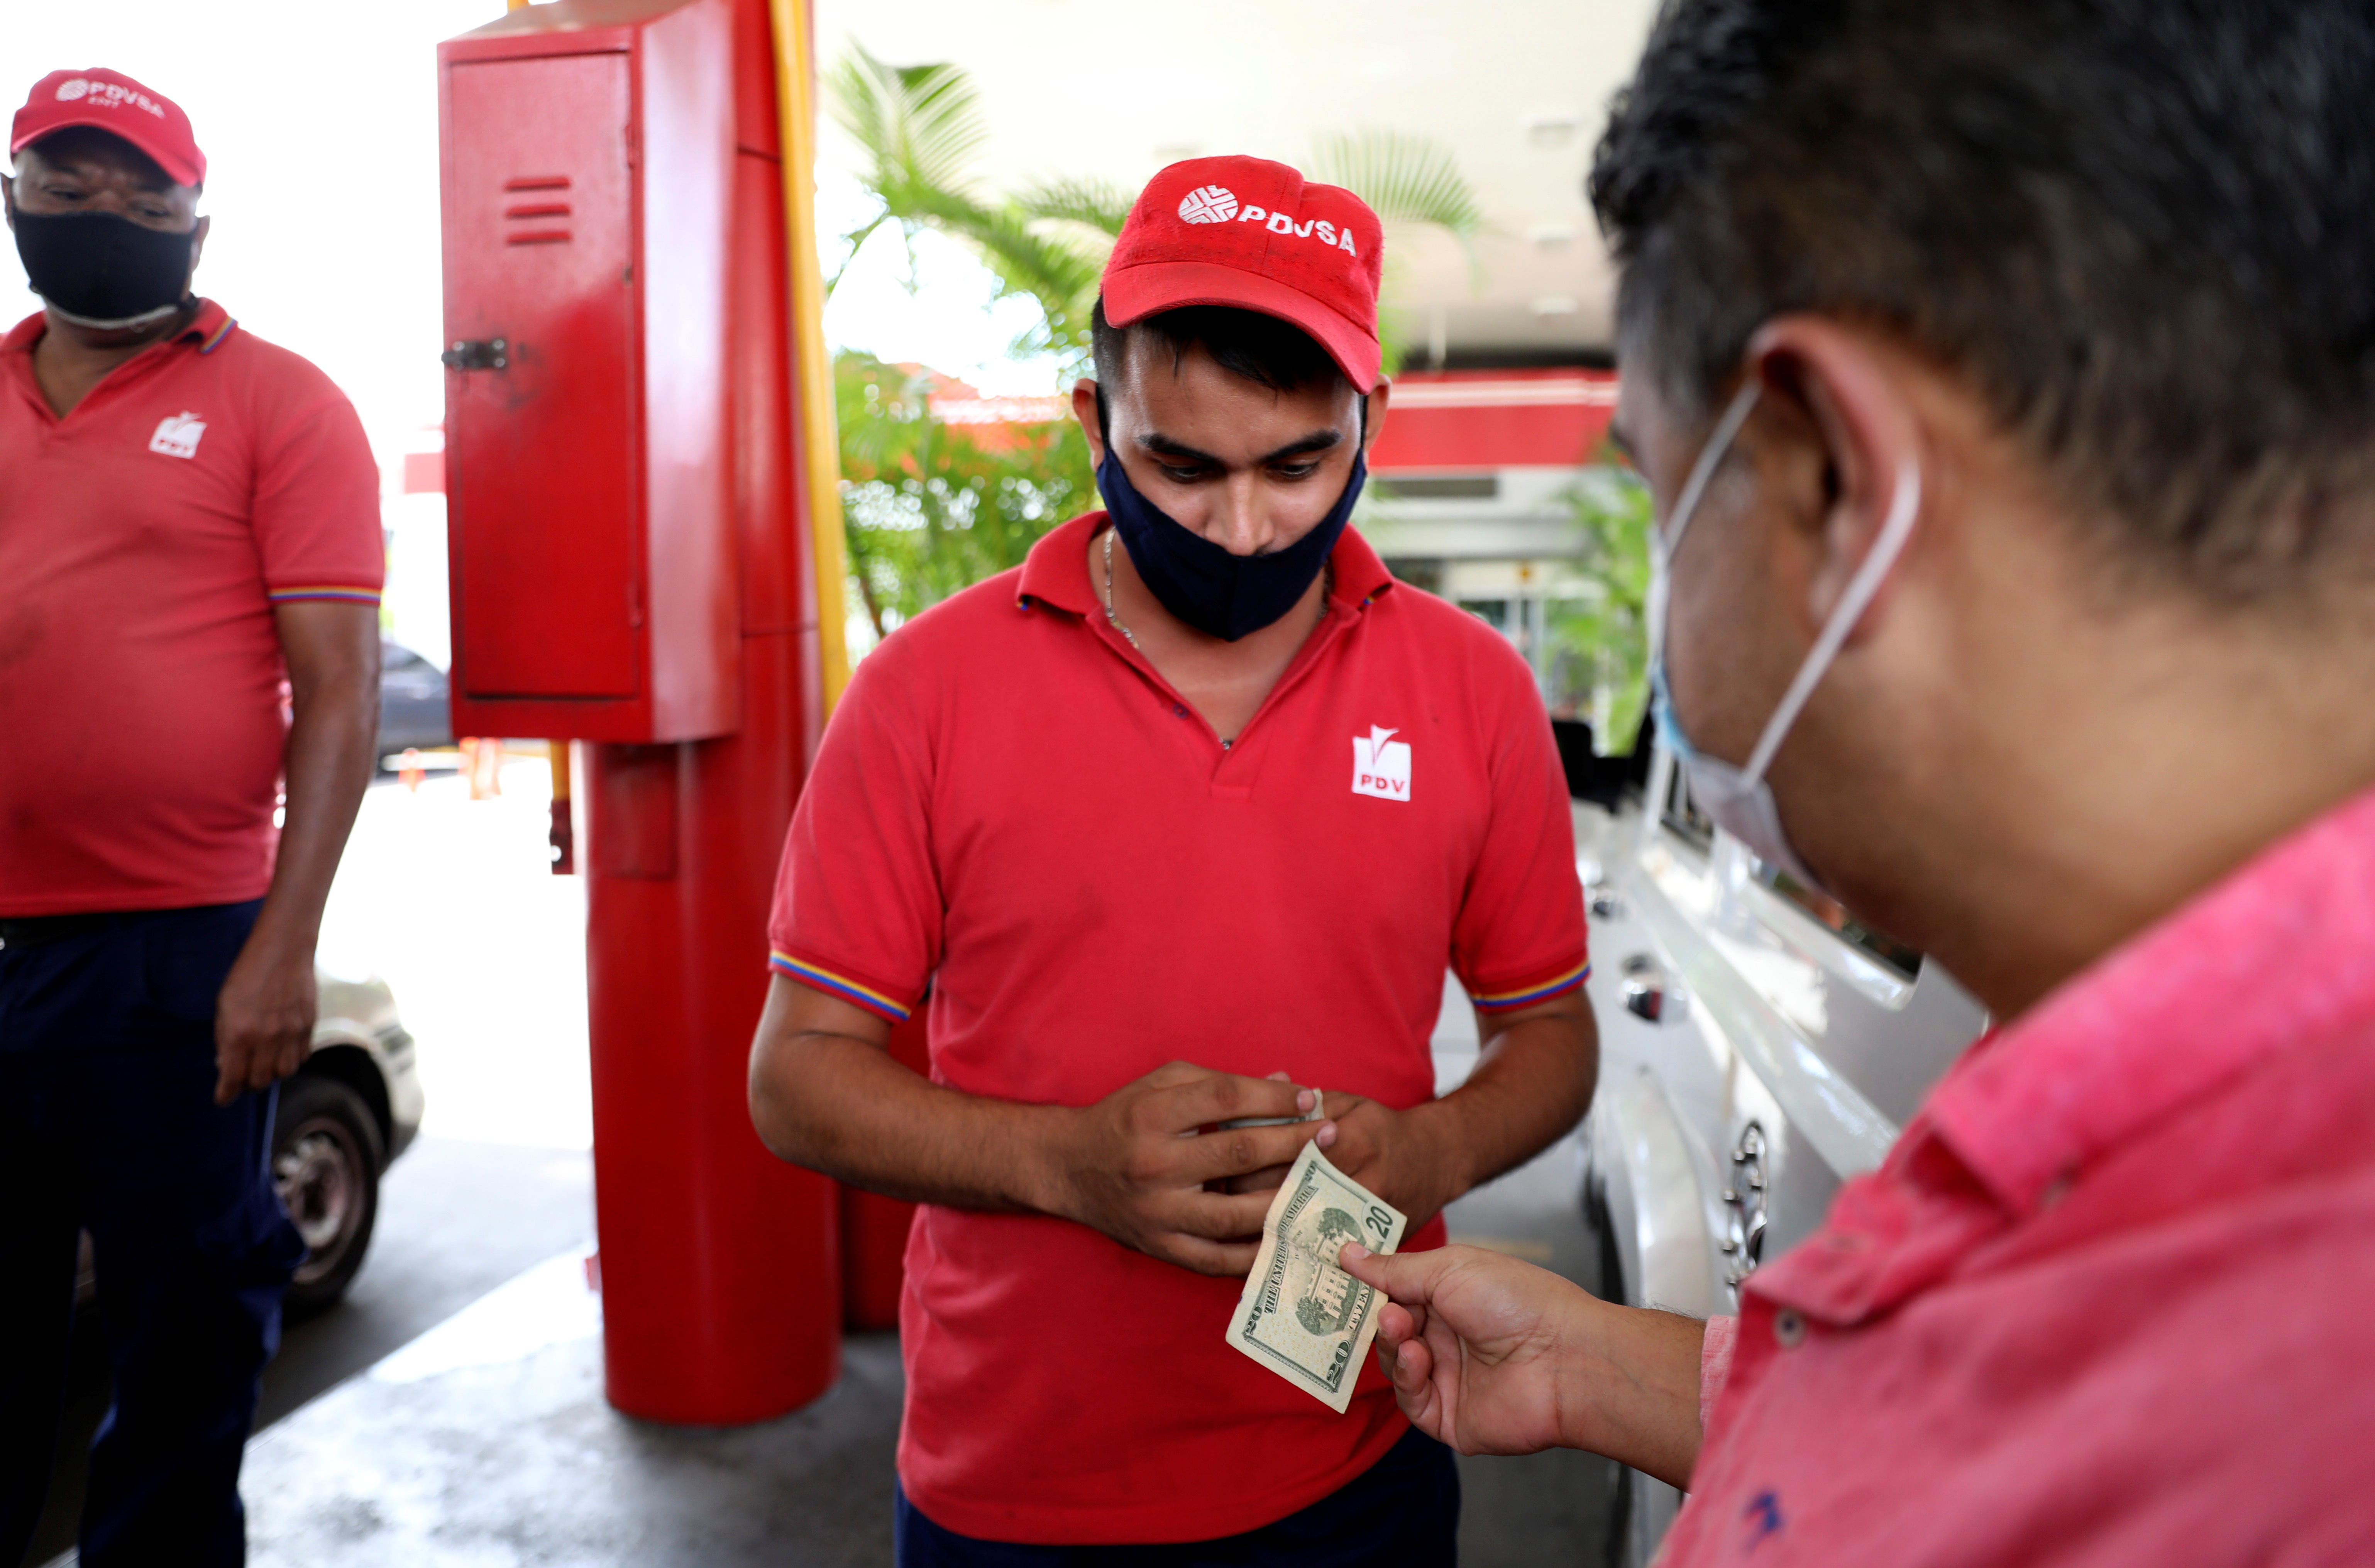
<instances>
[{"instance_id":1,"label":"man standing at far left in red cap and dark trousers","mask_svg":"<svg viewBox=\"0 0 2375 1568\"><path fill-rule=\"evenodd\" d=\"M378 470L321 371L190 295L207 164L173 102L57 71L10 154L43 311L0 340L0 1561L88 1226L114 1406L81 1561L238 1563L304 1257L273 1083L378 732Z\"/></svg>"}]
</instances>

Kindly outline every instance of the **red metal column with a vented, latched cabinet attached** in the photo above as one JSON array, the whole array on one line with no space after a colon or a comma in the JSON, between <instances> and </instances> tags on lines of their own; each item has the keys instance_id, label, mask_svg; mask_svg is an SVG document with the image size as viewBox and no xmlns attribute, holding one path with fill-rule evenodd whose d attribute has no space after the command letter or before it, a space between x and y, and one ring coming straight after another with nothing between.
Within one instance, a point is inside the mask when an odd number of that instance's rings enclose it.
<instances>
[{"instance_id":1,"label":"red metal column with a vented, latched cabinet attached","mask_svg":"<svg viewBox=\"0 0 2375 1568\"><path fill-rule=\"evenodd\" d=\"M762 1421L841 1359L834 1183L743 1090L819 722L767 12L556 0L437 62L454 722L591 741L608 1397Z\"/></svg>"}]
</instances>

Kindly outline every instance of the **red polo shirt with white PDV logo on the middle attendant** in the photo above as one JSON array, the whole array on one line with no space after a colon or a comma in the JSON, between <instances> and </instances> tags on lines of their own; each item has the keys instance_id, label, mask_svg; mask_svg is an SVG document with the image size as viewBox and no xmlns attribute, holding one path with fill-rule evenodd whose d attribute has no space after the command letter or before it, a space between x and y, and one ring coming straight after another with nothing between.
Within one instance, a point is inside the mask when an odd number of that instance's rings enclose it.
<instances>
[{"instance_id":1,"label":"red polo shirt with white PDV logo on the middle attendant","mask_svg":"<svg viewBox=\"0 0 2375 1568\"><path fill-rule=\"evenodd\" d=\"M876 649L784 851L774 965L898 1019L931 1076L1090 1105L1164 1062L1432 1098L1444 965L1582 984L1568 789L1525 663L1347 532L1328 615L1235 748L1097 608L1076 518ZM1408 1245L1442 1245L1442 1221ZM1240 1281L1059 1219L924 1207L900 1478L962 1535L1176 1542L1282 1518L1404 1430L1226 1345Z\"/></svg>"}]
</instances>

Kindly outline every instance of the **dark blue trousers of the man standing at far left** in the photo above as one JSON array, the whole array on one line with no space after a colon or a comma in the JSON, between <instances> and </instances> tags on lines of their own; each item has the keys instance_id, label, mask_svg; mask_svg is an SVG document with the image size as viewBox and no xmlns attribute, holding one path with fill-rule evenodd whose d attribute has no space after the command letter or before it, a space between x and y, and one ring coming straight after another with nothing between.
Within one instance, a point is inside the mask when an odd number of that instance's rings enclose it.
<instances>
[{"instance_id":1,"label":"dark blue trousers of the man standing at far left","mask_svg":"<svg viewBox=\"0 0 2375 1568\"><path fill-rule=\"evenodd\" d=\"M83 1568L247 1558L240 1449L304 1259L273 1095L214 1105L214 998L256 908L10 922L0 946L0 1563L50 1480L83 1228L114 1380Z\"/></svg>"}]
</instances>

